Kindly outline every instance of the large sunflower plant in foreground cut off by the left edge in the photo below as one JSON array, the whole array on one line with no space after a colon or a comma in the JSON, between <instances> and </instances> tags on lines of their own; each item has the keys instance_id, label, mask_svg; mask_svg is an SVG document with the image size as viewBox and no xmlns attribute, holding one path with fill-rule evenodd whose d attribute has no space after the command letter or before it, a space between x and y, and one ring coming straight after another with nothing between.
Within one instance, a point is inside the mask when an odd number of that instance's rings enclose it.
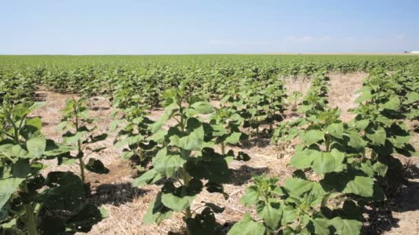
<instances>
[{"instance_id":1,"label":"large sunflower plant in foreground cut off by the left edge","mask_svg":"<svg viewBox=\"0 0 419 235\"><path fill-rule=\"evenodd\" d=\"M3 103L0 109L0 231L30 235L88 232L103 216L94 205L85 203L83 181L71 172L41 175L43 160L73 150L45 139L39 117L28 117L42 105Z\"/></svg>"}]
</instances>

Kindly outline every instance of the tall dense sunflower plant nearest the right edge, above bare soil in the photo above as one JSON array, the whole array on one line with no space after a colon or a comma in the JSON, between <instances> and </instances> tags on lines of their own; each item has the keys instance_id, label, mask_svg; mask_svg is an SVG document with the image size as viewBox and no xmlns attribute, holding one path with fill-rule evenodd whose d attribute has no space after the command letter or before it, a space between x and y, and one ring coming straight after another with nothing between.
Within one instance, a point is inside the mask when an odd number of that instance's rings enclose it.
<instances>
[{"instance_id":1,"label":"tall dense sunflower plant nearest the right edge, above bare soil","mask_svg":"<svg viewBox=\"0 0 419 235\"><path fill-rule=\"evenodd\" d=\"M416 155L409 144L411 135L404 123L415 104L411 103L411 107L402 104L411 90L396 82L399 79L398 75L393 78L382 69L371 71L358 91L360 97L356 101L359 106L352 110L356 117L351 125L363 133L362 143L370 150L368 168L381 170L380 184L387 192L397 188L402 180L401 164L394 154Z\"/></svg>"}]
</instances>

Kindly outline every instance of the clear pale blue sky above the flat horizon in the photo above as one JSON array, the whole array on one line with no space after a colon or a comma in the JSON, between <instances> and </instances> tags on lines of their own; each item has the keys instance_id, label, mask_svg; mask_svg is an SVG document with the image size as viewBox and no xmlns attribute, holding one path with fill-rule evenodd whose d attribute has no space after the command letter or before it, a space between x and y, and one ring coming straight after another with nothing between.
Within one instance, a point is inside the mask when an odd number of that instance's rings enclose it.
<instances>
[{"instance_id":1,"label":"clear pale blue sky above the flat horizon","mask_svg":"<svg viewBox=\"0 0 419 235\"><path fill-rule=\"evenodd\" d=\"M3 0L0 54L419 50L419 0Z\"/></svg>"}]
</instances>

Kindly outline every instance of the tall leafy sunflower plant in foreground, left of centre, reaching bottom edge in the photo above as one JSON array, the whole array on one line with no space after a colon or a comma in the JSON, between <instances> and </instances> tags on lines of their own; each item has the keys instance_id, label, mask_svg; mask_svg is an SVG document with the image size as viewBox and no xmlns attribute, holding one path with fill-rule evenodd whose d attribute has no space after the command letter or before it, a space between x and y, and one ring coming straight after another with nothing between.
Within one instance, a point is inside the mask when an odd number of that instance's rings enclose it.
<instances>
[{"instance_id":1,"label":"tall leafy sunflower plant in foreground, left of centre, reaching bottom edge","mask_svg":"<svg viewBox=\"0 0 419 235\"><path fill-rule=\"evenodd\" d=\"M227 159L232 156L216 153L212 146L236 143L239 137L231 137L233 133L230 131L231 128L235 130L240 118L227 122L232 117L227 115L231 114L227 108L214 113L209 102L194 96L187 97L186 94L183 89L165 91L165 113L148 126L154 133L150 139L159 143L160 150L152 158L153 168L135 179L133 186L164 182L161 192L144 216L145 223L160 223L173 212L181 212L188 234L214 234L214 213L221 211L210 204L206 204L201 213L191 207L204 188L208 192L227 196L223 192L223 183L231 178ZM214 113L211 124L202 117L210 113ZM170 120L176 124L164 128ZM223 123L228 123L226 127L230 128L218 128Z\"/></svg>"}]
</instances>

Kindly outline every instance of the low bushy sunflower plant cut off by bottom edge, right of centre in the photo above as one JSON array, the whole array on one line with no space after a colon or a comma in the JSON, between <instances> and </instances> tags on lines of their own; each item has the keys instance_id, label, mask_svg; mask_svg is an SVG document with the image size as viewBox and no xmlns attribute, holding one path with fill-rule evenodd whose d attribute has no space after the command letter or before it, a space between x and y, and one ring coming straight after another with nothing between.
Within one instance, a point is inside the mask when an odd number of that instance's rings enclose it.
<instances>
[{"instance_id":1,"label":"low bushy sunflower plant cut off by bottom edge, right of centre","mask_svg":"<svg viewBox=\"0 0 419 235\"><path fill-rule=\"evenodd\" d=\"M359 216L353 213L358 209L354 201L347 200L332 212L325 207L331 194L320 183L305 179L303 172L296 175L283 187L277 185L278 179L254 177L241 202L255 205L258 219L245 214L228 234L359 234L362 223L353 219Z\"/></svg>"}]
</instances>

